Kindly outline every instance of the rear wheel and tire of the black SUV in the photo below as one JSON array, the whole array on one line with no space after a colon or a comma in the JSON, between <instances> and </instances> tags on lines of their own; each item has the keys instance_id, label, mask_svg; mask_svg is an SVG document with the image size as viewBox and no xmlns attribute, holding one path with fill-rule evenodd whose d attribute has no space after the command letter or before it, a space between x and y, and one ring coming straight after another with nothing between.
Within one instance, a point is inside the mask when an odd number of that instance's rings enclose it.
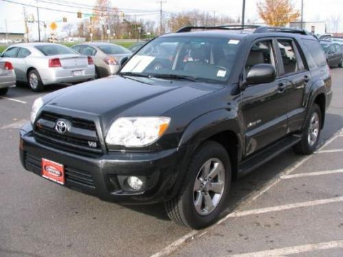
<instances>
[{"instance_id":1,"label":"rear wheel and tire of the black SUV","mask_svg":"<svg viewBox=\"0 0 343 257\"><path fill-rule=\"evenodd\" d=\"M303 138L293 147L296 154L312 154L316 150L321 128L322 112L318 104L314 103L303 130Z\"/></svg>"}]
</instances>

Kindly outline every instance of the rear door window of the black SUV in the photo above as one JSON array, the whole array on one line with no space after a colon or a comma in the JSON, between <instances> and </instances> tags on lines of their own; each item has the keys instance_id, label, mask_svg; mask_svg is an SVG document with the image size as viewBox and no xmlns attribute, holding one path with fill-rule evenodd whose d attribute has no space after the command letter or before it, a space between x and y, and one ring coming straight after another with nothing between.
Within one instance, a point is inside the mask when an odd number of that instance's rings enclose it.
<instances>
[{"instance_id":1,"label":"rear door window of the black SUV","mask_svg":"<svg viewBox=\"0 0 343 257\"><path fill-rule=\"evenodd\" d=\"M299 71L298 60L296 60L292 40L278 40L278 45L281 51L284 74Z\"/></svg>"}]
</instances>

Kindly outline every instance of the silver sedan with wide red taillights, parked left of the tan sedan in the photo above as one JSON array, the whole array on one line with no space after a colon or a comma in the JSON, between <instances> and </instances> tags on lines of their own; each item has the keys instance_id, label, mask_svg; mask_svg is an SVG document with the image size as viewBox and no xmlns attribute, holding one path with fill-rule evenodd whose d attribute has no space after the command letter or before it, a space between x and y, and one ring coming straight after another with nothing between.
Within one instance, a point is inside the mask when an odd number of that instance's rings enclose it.
<instances>
[{"instance_id":1,"label":"silver sedan with wide red taillights, parked left of the tan sedan","mask_svg":"<svg viewBox=\"0 0 343 257\"><path fill-rule=\"evenodd\" d=\"M1 57L13 64L16 81L27 82L36 92L50 84L84 82L95 77L92 58L80 56L64 45L42 42L11 45Z\"/></svg>"}]
</instances>

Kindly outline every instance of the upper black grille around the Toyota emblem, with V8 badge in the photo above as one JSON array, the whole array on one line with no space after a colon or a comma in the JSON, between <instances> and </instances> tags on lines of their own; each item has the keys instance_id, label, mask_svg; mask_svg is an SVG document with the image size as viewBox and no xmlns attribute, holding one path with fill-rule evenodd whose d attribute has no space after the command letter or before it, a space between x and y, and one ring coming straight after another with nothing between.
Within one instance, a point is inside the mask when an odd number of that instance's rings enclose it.
<instances>
[{"instance_id":1,"label":"upper black grille around the Toyota emblem, with V8 badge","mask_svg":"<svg viewBox=\"0 0 343 257\"><path fill-rule=\"evenodd\" d=\"M65 134L60 134L55 130L58 119L65 119L71 124L69 131ZM67 151L102 152L95 123L85 119L43 112L36 122L34 136L40 143L60 147Z\"/></svg>"}]
</instances>

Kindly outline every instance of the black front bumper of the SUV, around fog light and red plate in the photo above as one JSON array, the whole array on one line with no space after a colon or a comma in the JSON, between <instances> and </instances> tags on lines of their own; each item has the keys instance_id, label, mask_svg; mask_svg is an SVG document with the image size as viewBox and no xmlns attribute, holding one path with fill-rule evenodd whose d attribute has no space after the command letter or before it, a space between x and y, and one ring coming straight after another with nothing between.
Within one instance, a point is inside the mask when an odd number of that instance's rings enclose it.
<instances>
[{"instance_id":1,"label":"black front bumper of the SUV, around fog light and red plate","mask_svg":"<svg viewBox=\"0 0 343 257\"><path fill-rule=\"evenodd\" d=\"M26 126L30 127L30 126ZM41 175L42 158L64 165L64 186L122 204L149 204L170 199L177 190L187 149L169 149L149 153L108 152L97 157L72 154L38 143L32 130L21 130L20 158L23 167ZM77 178L76 175L79 175ZM145 178L141 192L129 192L119 180L128 175Z\"/></svg>"}]
</instances>

